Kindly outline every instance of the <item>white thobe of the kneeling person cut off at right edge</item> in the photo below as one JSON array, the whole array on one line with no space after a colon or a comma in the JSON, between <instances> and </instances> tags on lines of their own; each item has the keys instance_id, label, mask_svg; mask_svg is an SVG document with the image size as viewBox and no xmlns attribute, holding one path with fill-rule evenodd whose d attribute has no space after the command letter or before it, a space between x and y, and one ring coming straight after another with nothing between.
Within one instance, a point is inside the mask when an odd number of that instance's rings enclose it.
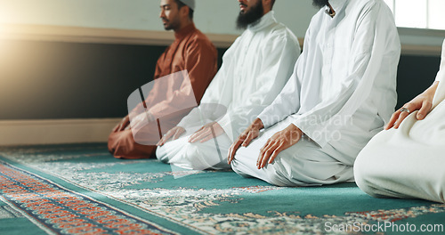
<instances>
[{"instance_id":1,"label":"white thobe of the kneeling person cut off at right edge","mask_svg":"<svg viewBox=\"0 0 445 235\"><path fill-rule=\"evenodd\" d=\"M412 112L399 129L377 134L360 152L354 174L361 190L445 203L445 41L436 81L433 109L424 120Z\"/></svg>"}]
</instances>

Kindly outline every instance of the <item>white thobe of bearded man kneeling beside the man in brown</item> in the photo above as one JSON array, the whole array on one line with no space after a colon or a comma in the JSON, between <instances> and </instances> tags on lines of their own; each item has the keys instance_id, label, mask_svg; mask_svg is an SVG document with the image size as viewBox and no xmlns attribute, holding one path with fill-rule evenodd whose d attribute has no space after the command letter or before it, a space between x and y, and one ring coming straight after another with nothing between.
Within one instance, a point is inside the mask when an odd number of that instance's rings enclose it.
<instances>
[{"instance_id":1,"label":"white thobe of bearded man kneeling beside the man in brown","mask_svg":"<svg viewBox=\"0 0 445 235\"><path fill-rule=\"evenodd\" d=\"M273 12L263 15L258 24L249 26L224 53L223 65L208 86L201 105L178 124L187 133L158 148L157 157L184 168L230 168L227 154L231 142L274 101L292 75L299 55L296 36L275 20ZM218 105L209 110L209 104ZM197 127L214 121L223 127L225 134L204 143L188 142Z\"/></svg>"}]
</instances>

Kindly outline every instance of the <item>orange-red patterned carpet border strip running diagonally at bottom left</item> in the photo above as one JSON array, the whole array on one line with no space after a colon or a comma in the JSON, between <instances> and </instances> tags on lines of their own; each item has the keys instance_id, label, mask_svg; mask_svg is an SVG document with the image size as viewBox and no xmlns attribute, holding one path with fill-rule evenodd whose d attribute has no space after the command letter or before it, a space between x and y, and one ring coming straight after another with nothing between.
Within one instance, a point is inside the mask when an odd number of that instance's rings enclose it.
<instances>
[{"instance_id":1,"label":"orange-red patterned carpet border strip running diagonally at bottom left","mask_svg":"<svg viewBox=\"0 0 445 235\"><path fill-rule=\"evenodd\" d=\"M6 164L0 182L4 200L48 233L176 234Z\"/></svg>"}]
</instances>

